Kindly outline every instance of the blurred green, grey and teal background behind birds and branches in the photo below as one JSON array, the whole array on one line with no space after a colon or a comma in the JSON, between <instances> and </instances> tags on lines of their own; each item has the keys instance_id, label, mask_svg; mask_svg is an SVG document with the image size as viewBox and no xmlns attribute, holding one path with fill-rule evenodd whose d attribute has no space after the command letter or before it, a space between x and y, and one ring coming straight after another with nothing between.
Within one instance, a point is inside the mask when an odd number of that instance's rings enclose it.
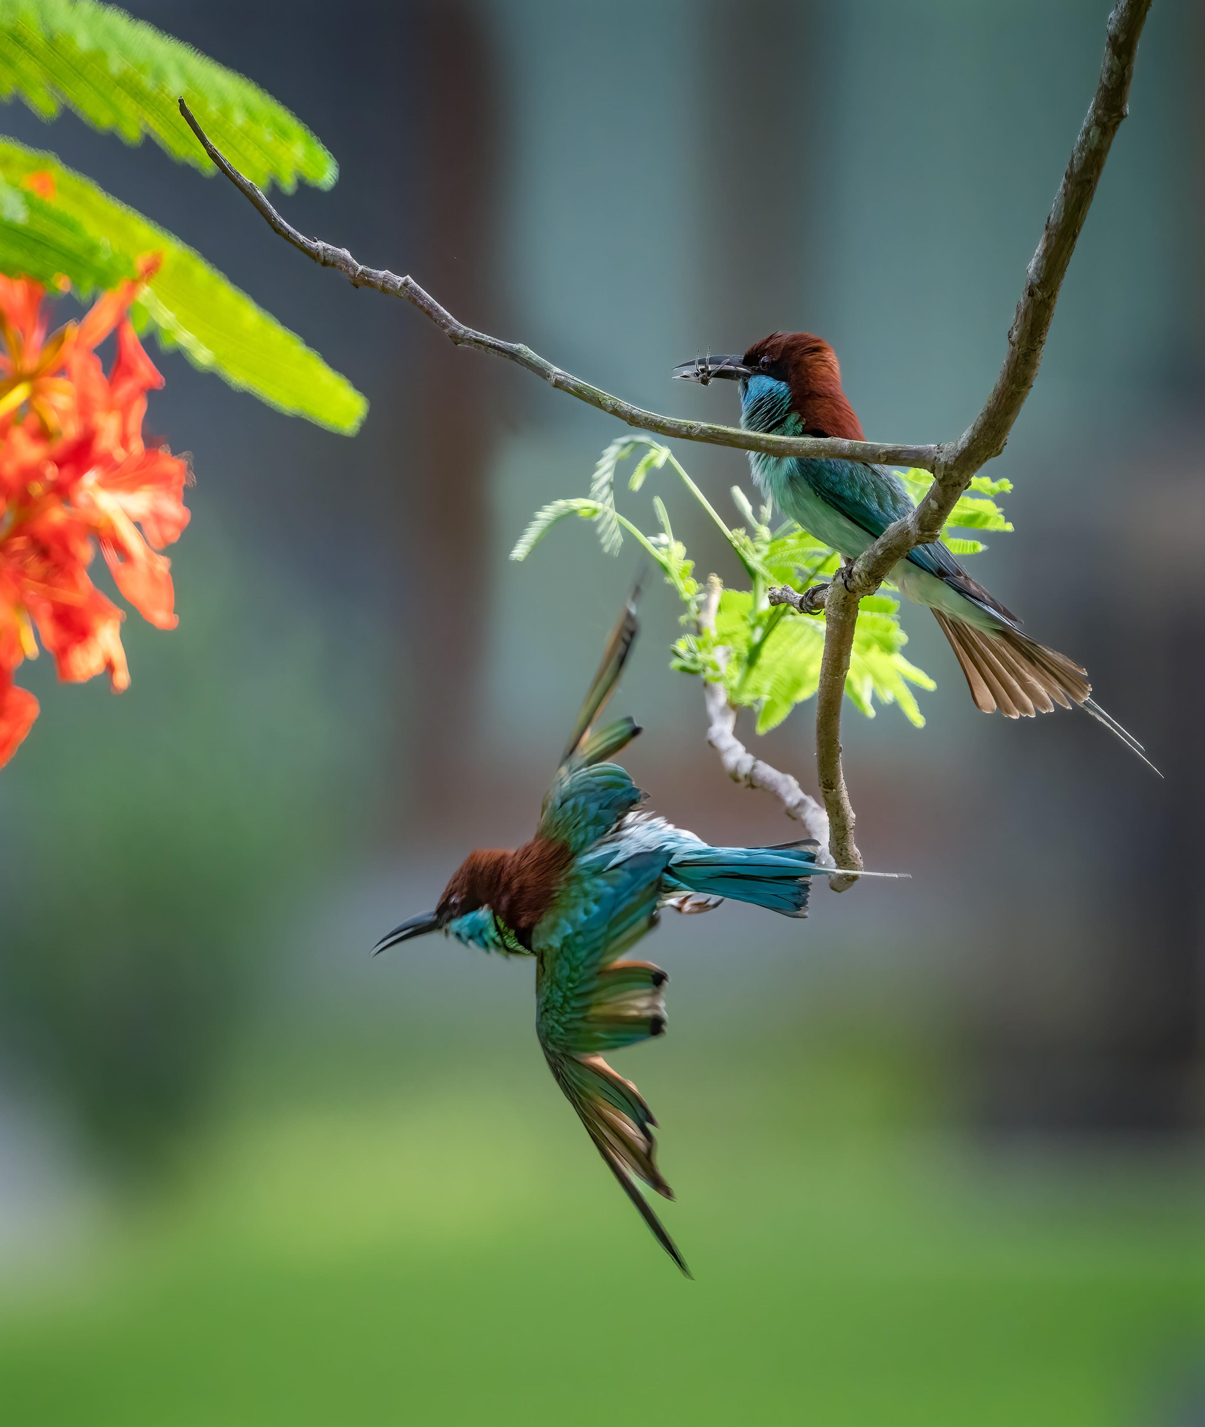
<instances>
[{"instance_id":1,"label":"blurred green, grey and teal background behind birds and branches","mask_svg":"<svg viewBox=\"0 0 1205 1427\"><path fill-rule=\"evenodd\" d=\"M1098 73L1108 0L130 6L341 164L302 230L607 390L824 334L880 438L971 420ZM868 865L801 926L667 919L680 1280L542 1063L526 963L369 960L528 836L635 552L586 525L617 428L292 254L218 180L19 106L369 395L358 438L163 355L193 452L178 631L51 688L0 775L0 1403L11 1423L1205 1423L1201 598L1205 20L1162 0L975 574L1084 661L1088 719L848 709ZM713 499L736 452L682 445ZM702 572L730 557L667 484ZM617 699L655 806L780 841L706 748L650 588ZM29 668L29 666L27 666ZM24 671L23 671L24 674ZM752 729L749 731L752 738ZM809 711L759 749L813 778Z\"/></svg>"}]
</instances>

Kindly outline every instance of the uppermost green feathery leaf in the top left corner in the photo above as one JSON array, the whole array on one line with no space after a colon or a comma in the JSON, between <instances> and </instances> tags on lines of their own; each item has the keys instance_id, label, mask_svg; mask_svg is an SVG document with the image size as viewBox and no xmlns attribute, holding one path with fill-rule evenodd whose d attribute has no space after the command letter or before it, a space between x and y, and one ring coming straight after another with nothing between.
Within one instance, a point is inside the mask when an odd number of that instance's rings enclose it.
<instances>
[{"instance_id":1,"label":"uppermost green feathery leaf in the top left corner","mask_svg":"<svg viewBox=\"0 0 1205 1427\"><path fill-rule=\"evenodd\" d=\"M180 117L197 121L254 183L287 193L297 180L329 188L338 166L284 104L190 44L94 0L0 0L0 98L20 96L43 118L66 104L127 144L150 134L175 160L212 173Z\"/></svg>"}]
</instances>

